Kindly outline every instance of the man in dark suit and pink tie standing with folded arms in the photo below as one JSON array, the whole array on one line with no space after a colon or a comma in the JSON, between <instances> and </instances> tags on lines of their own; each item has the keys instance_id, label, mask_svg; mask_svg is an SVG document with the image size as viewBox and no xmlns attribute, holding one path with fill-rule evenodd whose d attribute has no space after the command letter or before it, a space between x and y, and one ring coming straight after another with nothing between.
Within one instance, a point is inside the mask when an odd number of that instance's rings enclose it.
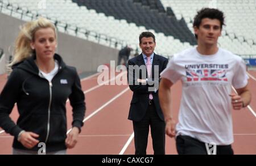
<instances>
[{"instance_id":1,"label":"man in dark suit and pink tie standing with folded arms","mask_svg":"<svg viewBox=\"0 0 256 166\"><path fill-rule=\"evenodd\" d=\"M154 53L155 36L142 32L142 53L128 61L129 87L133 91L128 119L133 121L135 155L146 155L149 127L155 155L165 154L165 123L158 98L159 74L168 59Z\"/></svg>"}]
</instances>

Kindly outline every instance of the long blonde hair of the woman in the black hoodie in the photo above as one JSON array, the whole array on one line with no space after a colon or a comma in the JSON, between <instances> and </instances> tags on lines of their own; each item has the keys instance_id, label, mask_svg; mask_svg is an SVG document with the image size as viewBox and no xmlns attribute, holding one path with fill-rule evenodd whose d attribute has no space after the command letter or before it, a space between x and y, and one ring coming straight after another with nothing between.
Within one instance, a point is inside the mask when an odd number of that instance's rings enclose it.
<instances>
[{"instance_id":1,"label":"long blonde hair of the woman in the black hoodie","mask_svg":"<svg viewBox=\"0 0 256 166\"><path fill-rule=\"evenodd\" d=\"M35 40L35 32L41 28L52 28L55 32L55 38L57 38L56 27L50 20L46 18L39 18L37 20L27 22L20 27L19 35L15 41L14 57L8 65L9 70L11 70L11 66L15 63L31 57L33 50L30 44Z\"/></svg>"}]
</instances>

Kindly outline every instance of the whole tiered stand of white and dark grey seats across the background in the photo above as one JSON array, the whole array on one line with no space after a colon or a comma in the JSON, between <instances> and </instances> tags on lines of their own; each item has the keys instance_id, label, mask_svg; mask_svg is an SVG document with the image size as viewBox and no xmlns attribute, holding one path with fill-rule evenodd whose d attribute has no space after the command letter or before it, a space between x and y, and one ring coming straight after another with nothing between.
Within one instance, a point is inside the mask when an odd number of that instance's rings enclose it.
<instances>
[{"instance_id":1,"label":"whole tiered stand of white and dark grey seats across the background","mask_svg":"<svg viewBox=\"0 0 256 166\"><path fill-rule=\"evenodd\" d=\"M26 20L45 16L57 25L60 32L117 49L130 45L138 50L139 33L151 31L156 36L155 52L163 56L194 46L192 20L196 11L202 7L218 7L224 10L227 18L220 46L243 57L255 56L256 53L253 0L246 0L248 4L245 5L236 1L238 5L232 3L230 6L231 1L223 0L47 0L45 7L39 6L40 0L2 2L8 4L7 8L15 8L12 15L16 18ZM20 14L16 14L19 12L26 16L20 18ZM242 14L245 21L240 23L241 18L234 19L237 16L234 12L244 12L249 18Z\"/></svg>"}]
</instances>

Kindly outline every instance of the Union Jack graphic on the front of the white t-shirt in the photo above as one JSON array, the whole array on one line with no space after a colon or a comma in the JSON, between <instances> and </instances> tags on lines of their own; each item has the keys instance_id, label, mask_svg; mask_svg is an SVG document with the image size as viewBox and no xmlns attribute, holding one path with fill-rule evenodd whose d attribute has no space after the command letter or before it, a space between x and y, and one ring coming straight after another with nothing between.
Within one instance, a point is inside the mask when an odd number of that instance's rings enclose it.
<instances>
[{"instance_id":1,"label":"Union Jack graphic on the front of the white t-shirt","mask_svg":"<svg viewBox=\"0 0 256 166\"><path fill-rule=\"evenodd\" d=\"M186 70L187 81L228 81L226 70L223 69L197 69Z\"/></svg>"}]
</instances>

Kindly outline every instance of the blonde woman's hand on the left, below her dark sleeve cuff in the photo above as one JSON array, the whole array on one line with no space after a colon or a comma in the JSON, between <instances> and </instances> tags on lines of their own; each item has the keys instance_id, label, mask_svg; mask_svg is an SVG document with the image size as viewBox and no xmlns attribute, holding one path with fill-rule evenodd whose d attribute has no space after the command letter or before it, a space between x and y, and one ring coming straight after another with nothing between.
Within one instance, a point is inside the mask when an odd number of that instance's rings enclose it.
<instances>
[{"instance_id":1,"label":"blonde woman's hand on the left, below her dark sleeve cuff","mask_svg":"<svg viewBox=\"0 0 256 166\"><path fill-rule=\"evenodd\" d=\"M38 139L35 139L38 137L38 134L25 131L22 134L20 134L19 142L22 143L23 146L26 148L33 148L34 146L36 146L36 144L39 143Z\"/></svg>"}]
</instances>

